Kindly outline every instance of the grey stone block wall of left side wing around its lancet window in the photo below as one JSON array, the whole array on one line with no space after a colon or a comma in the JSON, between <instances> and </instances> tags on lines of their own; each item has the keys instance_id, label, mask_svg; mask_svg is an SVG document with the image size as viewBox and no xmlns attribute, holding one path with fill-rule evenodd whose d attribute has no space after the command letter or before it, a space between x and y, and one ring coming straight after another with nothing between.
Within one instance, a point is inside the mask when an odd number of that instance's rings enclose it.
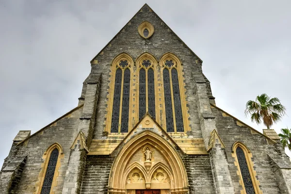
<instances>
[{"instance_id":1,"label":"grey stone block wall of left side wing around its lancet window","mask_svg":"<svg viewBox=\"0 0 291 194\"><path fill-rule=\"evenodd\" d=\"M78 125L82 109L67 115L65 118L52 124L47 129L32 136L23 146L18 146L16 155L27 155L20 181L15 189L16 194L33 194L39 185L39 173L44 162L43 154L47 148L59 143L63 147L64 158L61 160L59 176L55 194L62 194L67 162L70 155L70 146L78 134Z\"/></svg>"}]
</instances>

